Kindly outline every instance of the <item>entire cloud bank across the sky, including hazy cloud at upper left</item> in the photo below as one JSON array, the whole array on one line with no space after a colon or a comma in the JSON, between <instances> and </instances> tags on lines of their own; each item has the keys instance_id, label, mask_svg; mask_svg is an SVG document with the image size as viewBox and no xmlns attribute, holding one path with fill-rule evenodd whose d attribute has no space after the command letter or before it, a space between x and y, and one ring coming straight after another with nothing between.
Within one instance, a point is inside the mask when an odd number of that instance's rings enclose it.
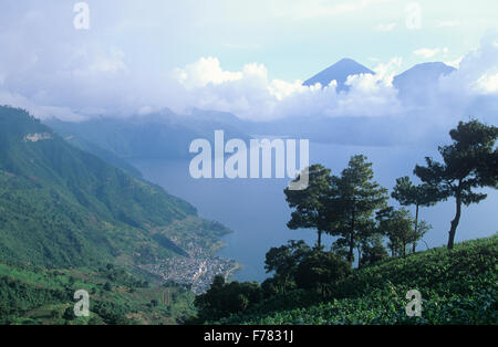
<instances>
[{"instance_id":1,"label":"entire cloud bank across the sky, including hazy cloud at upper left","mask_svg":"<svg viewBox=\"0 0 498 347\"><path fill-rule=\"evenodd\" d=\"M371 2L357 1L355 7ZM68 9L71 12L71 3L59 11ZM299 80L272 78L261 63L225 70L215 56L173 71L149 69L134 64L129 52L117 45L103 44L113 31L125 30L123 25L110 24L110 32L80 32L66 30L66 23L46 27L50 18L22 7L6 11L19 20L0 31L0 104L27 108L40 118L131 116L165 107L188 114L195 107L229 112L249 120L412 117L416 113L430 122L440 118L453 124L476 109L490 117L498 104L496 34L487 35L479 49L467 54L458 71L435 82L430 95L415 107L393 86L393 76L401 72L400 57L375 66L375 75L350 76L349 92L338 92L334 81L326 86L303 86ZM42 27L49 29L38 33L37 28ZM416 53L428 57L446 51L423 49Z\"/></svg>"}]
</instances>

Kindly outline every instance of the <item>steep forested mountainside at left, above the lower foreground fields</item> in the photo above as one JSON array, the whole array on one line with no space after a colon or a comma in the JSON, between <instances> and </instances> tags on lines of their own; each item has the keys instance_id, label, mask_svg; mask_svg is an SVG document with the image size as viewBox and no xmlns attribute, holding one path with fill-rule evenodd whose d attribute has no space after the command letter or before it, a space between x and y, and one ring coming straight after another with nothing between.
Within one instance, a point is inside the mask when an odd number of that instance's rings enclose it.
<instances>
[{"instance_id":1,"label":"steep forested mountainside at left, above the lower foreground fields","mask_svg":"<svg viewBox=\"0 0 498 347\"><path fill-rule=\"evenodd\" d=\"M184 253L155 240L165 240L162 227L193 218L187 202L69 145L27 112L0 106L0 262L151 263ZM216 225L209 236L224 232Z\"/></svg>"}]
</instances>

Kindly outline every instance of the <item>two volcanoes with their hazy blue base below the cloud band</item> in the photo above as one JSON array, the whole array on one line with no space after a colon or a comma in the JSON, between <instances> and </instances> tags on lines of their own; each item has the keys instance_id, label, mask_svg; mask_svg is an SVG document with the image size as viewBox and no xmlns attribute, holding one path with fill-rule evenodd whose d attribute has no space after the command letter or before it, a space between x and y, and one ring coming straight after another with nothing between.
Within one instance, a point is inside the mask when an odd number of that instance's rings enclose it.
<instances>
[{"instance_id":1,"label":"two volcanoes with their hazy blue base below the cloud band","mask_svg":"<svg viewBox=\"0 0 498 347\"><path fill-rule=\"evenodd\" d=\"M427 102L434 98L432 92L437 86L438 78L454 71L454 67L444 63L418 64L395 76L393 85L397 88L402 103L408 106L418 106L422 99ZM338 92L346 93L349 91L349 86L345 85L347 76L355 74L375 74L375 72L354 60L343 59L307 80L303 85L320 83L322 86L326 86L335 80L338 81ZM416 109L416 107L411 107L411 109ZM267 123L249 123L245 128L250 129L252 134L294 136L319 143L391 146L409 144L414 137L421 136L417 132L409 134L400 132L400 129L411 126L414 129L419 127L419 122L412 114L407 117L367 117L359 114L354 117L333 118L322 115L289 117ZM426 132L423 136L428 140L434 140L437 134L438 130Z\"/></svg>"}]
</instances>

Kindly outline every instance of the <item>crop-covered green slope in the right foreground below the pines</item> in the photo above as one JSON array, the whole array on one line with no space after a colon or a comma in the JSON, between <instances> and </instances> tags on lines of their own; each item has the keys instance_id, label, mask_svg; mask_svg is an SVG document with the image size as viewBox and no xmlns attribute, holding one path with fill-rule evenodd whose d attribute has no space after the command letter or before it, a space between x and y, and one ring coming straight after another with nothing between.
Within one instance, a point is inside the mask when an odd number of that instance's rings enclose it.
<instances>
[{"instance_id":1,"label":"crop-covered green slope in the right foreground below the pines","mask_svg":"<svg viewBox=\"0 0 498 347\"><path fill-rule=\"evenodd\" d=\"M388 259L331 284L328 299L304 291L277 295L216 324L497 324L498 236ZM422 294L408 317L406 293ZM313 299L315 297L315 299Z\"/></svg>"}]
</instances>

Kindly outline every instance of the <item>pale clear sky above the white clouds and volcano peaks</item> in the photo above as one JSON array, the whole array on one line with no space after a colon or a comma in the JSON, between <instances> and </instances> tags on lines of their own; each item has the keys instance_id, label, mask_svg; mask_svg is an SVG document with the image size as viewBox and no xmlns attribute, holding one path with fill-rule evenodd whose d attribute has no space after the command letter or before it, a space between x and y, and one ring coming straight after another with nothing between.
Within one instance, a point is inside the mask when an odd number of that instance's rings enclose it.
<instances>
[{"instance_id":1,"label":"pale clear sky above the white clouds and volcano peaks","mask_svg":"<svg viewBox=\"0 0 498 347\"><path fill-rule=\"evenodd\" d=\"M91 30L105 32L108 44L138 64L164 69L216 56L226 70L258 62L271 77L284 80L305 80L344 56L370 66L393 56L403 57L403 67L453 62L498 29L498 2L492 0L98 2L107 4L89 1L95 15ZM419 29L406 25L414 3L421 9ZM422 49L439 53L414 54Z\"/></svg>"}]
</instances>

